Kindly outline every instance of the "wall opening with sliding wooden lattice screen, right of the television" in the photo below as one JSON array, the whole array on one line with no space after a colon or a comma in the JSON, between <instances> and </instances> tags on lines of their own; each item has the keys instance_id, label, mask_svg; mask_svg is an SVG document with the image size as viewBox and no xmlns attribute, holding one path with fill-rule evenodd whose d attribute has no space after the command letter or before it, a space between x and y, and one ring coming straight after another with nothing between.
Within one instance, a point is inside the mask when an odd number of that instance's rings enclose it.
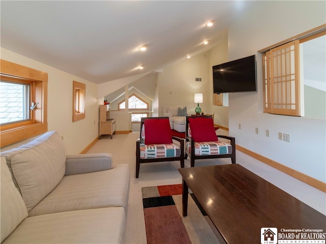
<instances>
[{"instance_id":1,"label":"wall opening with sliding wooden lattice screen, right of the television","mask_svg":"<svg viewBox=\"0 0 326 244\"><path fill-rule=\"evenodd\" d=\"M316 72L313 73L324 73L324 65L321 65L323 68L318 69L318 71L316 66L320 66L320 59L318 59L318 56L321 56L324 60L325 47L323 42L323 44L319 46L321 49L319 52L317 51L317 55L313 52L304 54L304 47L302 44L324 37L326 35L325 29L326 24L258 51L262 53L264 112L304 116L305 113L309 111L308 109L312 107L306 106L305 101L308 103L313 100L315 95L311 96L311 90L314 88L311 88L310 85L306 85L307 78L304 74L308 72L303 72L303 70L309 66L310 69L316 70ZM320 43L320 40L317 43ZM313 49L316 49L315 46ZM314 57L314 59L312 57ZM314 83L321 82L324 87L325 79L320 78L320 75L318 78L319 80ZM309 89L309 93L306 92L306 89ZM314 94L318 93L319 98L325 97L324 88L317 88L315 90L318 90L318 92L314 92ZM318 105L316 104L313 107L313 110L316 110ZM324 108L324 106L322 108ZM324 111L316 113L317 117L325 117ZM316 115L313 116L316 117Z\"/></svg>"}]
</instances>

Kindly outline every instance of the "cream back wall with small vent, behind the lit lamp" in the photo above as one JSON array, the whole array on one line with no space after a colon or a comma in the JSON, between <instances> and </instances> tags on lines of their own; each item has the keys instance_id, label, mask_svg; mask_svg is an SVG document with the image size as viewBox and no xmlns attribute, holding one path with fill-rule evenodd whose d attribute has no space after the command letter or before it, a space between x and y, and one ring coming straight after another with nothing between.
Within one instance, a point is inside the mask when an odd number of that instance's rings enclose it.
<instances>
[{"instance_id":1,"label":"cream back wall with small vent, behind the lit lamp","mask_svg":"<svg viewBox=\"0 0 326 244\"><path fill-rule=\"evenodd\" d=\"M158 74L158 114L163 116L162 106L187 106L187 113L195 113L197 104L194 94L203 93L203 103L199 104L204 113L212 113L209 72L209 52L166 66ZM202 78L202 81L195 81Z\"/></svg>"}]
</instances>

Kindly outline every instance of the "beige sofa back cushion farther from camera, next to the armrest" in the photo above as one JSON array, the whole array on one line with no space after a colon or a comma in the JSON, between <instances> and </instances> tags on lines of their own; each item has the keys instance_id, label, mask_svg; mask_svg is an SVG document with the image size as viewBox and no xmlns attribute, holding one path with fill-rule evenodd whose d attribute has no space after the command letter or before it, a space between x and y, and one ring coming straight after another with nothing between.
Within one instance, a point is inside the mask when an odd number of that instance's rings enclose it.
<instances>
[{"instance_id":1,"label":"beige sofa back cushion farther from camera, next to the armrest","mask_svg":"<svg viewBox=\"0 0 326 244\"><path fill-rule=\"evenodd\" d=\"M15 185L30 211L60 182L65 174L66 147L57 132L2 152Z\"/></svg>"}]
</instances>

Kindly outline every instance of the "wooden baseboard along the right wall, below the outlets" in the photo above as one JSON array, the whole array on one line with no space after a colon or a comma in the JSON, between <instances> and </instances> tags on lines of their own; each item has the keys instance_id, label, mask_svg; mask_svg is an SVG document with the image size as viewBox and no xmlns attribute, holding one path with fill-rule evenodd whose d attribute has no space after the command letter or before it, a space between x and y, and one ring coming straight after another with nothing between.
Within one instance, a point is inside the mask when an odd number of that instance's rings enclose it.
<instances>
[{"instance_id":1,"label":"wooden baseboard along the right wall, below the outlets","mask_svg":"<svg viewBox=\"0 0 326 244\"><path fill-rule=\"evenodd\" d=\"M254 158L254 159L257 159L273 168L276 168L280 171L282 171L283 173L286 173L298 180L301 180L303 182L305 182L306 184L320 190L320 191L323 191L323 192L326 192L326 183L318 180L318 179L315 179L311 176L308 176L304 173L301 173L299 171L296 171L295 169L291 169L283 164L280 164L276 161L273 161L273 160L270 160L264 156L261 156L259 154L256 154L254 153L253 151L251 150L248 150L247 148L244 148L242 146L239 146L239 145L235 145L235 148L239 151L241 151L242 153L244 154L247 154L249 155L250 157Z\"/></svg>"}]
</instances>

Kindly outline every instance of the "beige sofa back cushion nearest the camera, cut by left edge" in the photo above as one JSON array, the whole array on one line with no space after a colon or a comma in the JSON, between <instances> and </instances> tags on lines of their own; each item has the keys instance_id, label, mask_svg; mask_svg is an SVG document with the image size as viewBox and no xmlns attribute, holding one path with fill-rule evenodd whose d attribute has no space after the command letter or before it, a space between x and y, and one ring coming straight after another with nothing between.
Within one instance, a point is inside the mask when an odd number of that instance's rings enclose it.
<instances>
[{"instance_id":1,"label":"beige sofa back cushion nearest the camera, cut by left edge","mask_svg":"<svg viewBox=\"0 0 326 244\"><path fill-rule=\"evenodd\" d=\"M5 157L1 157L1 217L0 233L2 242L23 221L28 212L24 201L12 181L12 176L6 164Z\"/></svg>"}]
</instances>

